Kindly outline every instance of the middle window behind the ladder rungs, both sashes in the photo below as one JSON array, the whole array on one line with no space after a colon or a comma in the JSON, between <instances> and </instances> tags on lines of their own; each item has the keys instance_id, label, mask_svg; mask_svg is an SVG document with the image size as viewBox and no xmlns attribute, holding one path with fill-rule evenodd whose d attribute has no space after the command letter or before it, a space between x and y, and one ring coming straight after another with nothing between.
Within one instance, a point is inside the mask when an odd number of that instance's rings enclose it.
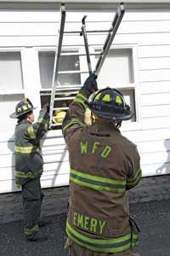
<instances>
[{"instance_id":1,"label":"middle window behind the ladder rungs, both sashes","mask_svg":"<svg viewBox=\"0 0 170 256\"><path fill-rule=\"evenodd\" d=\"M54 51L39 51L39 70L41 79L41 104L50 102L54 73ZM54 115L65 114L66 109L77 95L81 85L80 63L77 50L63 51L59 61L57 93L54 102ZM62 119L53 119L55 129L59 128Z\"/></svg>"}]
</instances>

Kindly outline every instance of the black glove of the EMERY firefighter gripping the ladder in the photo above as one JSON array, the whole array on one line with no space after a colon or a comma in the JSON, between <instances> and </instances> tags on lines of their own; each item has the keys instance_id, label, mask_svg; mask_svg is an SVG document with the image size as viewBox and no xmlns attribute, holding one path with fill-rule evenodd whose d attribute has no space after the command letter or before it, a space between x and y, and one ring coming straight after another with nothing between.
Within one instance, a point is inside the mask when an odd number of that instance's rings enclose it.
<instances>
[{"instance_id":1,"label":"black glove of the EMERY firefighter gripping the ladder","mask_svg":"<svg viewBox=\"0 0 170 256\"><path fill-rule=\"evenodd\" d=\"M97 75L95 73L91 73L82 86L82 91L85 91L88 96L98 90L96 79Z\"/></svg>"}]
</instances>

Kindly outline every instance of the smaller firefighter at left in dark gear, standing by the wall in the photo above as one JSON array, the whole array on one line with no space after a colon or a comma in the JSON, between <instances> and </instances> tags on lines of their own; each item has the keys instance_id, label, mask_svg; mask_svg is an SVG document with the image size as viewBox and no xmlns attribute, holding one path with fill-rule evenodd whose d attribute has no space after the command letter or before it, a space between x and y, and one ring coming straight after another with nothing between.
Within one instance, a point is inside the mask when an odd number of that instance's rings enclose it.
<instances>
[{"instance_id":1,"label":"smaller firefighter at left in dark gear, standing by the wall","mask_svg":"<svg viewBox=\"0 0 170 256\"><path fill-rule=\"evenodd\" d=\"M16 105L11 118L18 119L14 131L15 183L22 189L24 207L24 234L29 241L45 240L39 227L45 222L40 219L43 193L40 177L43 172L40 139L48 131L48 103L34 122L33 106L29 99Z\"/></svg>"}]
</instances>

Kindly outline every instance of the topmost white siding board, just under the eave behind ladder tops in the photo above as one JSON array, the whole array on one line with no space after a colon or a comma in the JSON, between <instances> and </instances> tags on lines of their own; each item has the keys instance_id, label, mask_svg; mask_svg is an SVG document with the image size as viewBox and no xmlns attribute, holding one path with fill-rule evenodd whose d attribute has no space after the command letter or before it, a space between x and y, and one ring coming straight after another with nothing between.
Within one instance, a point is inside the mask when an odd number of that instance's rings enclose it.
<instances>
[{"instance_id":1,"label":"topmost white siding board, just under the eave behind ladder tops","mask_svg":"<svg viewBox=\"0 0 170 256\"><path fill-rule=\"evenodd\" d=\"M153 5L154 8L154 5ZM144 10L137 10L136 12L130 9L126 10L126 13L123 17L124 21L151 21L151 20L169 20L169 13L168 9L145 9ZM0 11L0 22L57 22L59 20L59 9L51 9L51 10L1 10ZM110 9L110 11L101 11L101 10L94 10L89 11L85 9L84 11L77 11L76 15L74 10L68 10L66 13L66 20L67 21L79 21L82 20L83 15L88 15L88 20L96 21L97 18L100 17L101 21L109 21L112 20L113 14L115 9ZM106 13L106 15L105 15ZM11 14L11 15L10 15Z\"/></svg>"}]
</instances>

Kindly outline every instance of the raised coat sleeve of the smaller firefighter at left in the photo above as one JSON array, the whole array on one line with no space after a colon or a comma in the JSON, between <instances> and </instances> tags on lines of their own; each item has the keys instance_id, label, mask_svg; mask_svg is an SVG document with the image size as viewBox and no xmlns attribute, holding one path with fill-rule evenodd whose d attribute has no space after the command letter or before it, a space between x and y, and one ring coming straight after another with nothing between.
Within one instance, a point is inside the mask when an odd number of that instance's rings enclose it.
<instances>
[{"instance_id":1,"label":"raised coat sleeve of the smaller firefighter at left","mask_svg":"<svg viewBox=\"0 0 170 256\"><path fill-rule=\"evenodd\" d=\"M49 115L43 109L40 111L37 122L33 125L29 125L26 130L27 138L38 142L41 137L48 131Z\"/></svg>"}]
</instances>

